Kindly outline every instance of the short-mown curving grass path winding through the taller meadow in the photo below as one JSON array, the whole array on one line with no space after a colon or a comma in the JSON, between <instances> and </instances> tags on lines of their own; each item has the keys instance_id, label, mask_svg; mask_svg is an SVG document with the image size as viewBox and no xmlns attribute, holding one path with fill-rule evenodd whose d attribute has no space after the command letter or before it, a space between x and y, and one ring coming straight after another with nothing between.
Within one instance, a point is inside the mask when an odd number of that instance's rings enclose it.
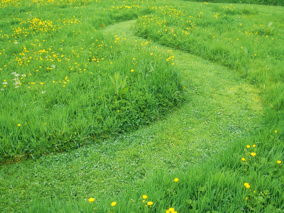
<instances>
[{"instance_id":1,"label":"short-mown curving grass path winding through the taller meadow","mask_svg":"<svg viewBox=\"0 0 284 213\"><path fill-rule=\"evenodd\" d=\"M104 31L126 38L126 45L145 43L131 34L132 23ZM153 54L168 51L151 42L145 48L153 49ZM97 202L116 197L158 170L174 174L212 159L209 156L258 129L262 116L258 89L226 67L178 50L173 55L186 87L182 107L115 141L2 166L0 209L28 209L34 200L50 197L95 197Z\"/></svg>"}]
</instances>

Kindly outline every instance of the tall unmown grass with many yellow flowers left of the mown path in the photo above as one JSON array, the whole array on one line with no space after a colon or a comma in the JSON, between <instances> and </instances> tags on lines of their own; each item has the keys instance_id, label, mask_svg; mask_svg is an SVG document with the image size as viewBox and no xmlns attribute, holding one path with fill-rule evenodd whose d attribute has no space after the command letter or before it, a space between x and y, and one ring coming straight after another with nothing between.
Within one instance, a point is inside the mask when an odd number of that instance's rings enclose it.
<instances>
[{"instance_id":1,"label":"tall unmown grass with many yellow flowers left of the mown path","mask_svg":"<svg viewBox=\"0 0 284 213\"><path fill-rule=\"evenodd\" d=\"M129 46L125 38L97 32L148 6L18 2L1 9L2 26L11 23L1 31L1 160L133 131L182 99L178 70L165 62L170 53L153 55L148 43Z\"/></svg>"}]
</instances>

